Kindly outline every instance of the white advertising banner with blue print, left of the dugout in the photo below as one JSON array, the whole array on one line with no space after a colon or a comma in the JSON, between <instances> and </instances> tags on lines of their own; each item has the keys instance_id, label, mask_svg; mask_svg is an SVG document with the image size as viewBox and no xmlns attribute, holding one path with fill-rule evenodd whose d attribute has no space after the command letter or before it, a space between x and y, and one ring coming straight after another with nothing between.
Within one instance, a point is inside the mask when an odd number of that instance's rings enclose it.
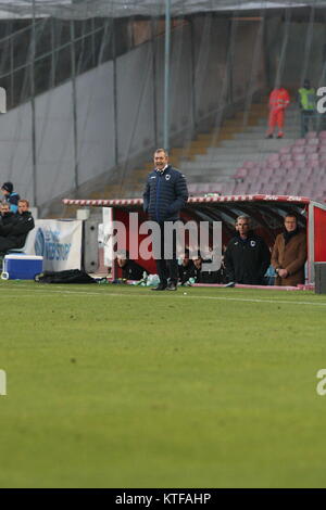
<instances>
[{"instance_id":1,"label":"white advertising banner with blue print, left of the dugout","mask_svg":"<svg viewBox=\"0 0 326 510\"><path fill-rule=\"evenodd\" d=\"M82 220L36 219L25 253L41 255L46 271L80 269L82 235Z\"/></svg>"}]
</instances>

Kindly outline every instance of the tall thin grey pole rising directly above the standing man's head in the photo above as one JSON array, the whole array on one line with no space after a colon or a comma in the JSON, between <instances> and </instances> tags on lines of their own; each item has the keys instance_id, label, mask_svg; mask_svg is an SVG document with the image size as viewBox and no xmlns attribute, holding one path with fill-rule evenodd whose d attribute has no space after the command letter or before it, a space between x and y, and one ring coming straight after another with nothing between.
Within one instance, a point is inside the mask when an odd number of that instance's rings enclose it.
<instances>
[{"instance_id":1,"label":"tall thin grey pole rising directly above the standing man's head","mask_svg":"<svg viewBox=\"0 0 326 510\"><path fill-rule=\"evenodd\" d=\"M165 0L163 146L166 151L168 151L170 149L170 48L171 48L171 0Z\"/></svg>"}]
</instances>

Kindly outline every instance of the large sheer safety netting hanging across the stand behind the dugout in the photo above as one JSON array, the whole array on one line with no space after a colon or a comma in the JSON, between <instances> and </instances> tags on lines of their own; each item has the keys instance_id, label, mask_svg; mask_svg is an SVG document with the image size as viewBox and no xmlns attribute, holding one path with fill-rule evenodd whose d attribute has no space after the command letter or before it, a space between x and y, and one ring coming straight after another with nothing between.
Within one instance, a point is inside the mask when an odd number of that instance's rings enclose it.
<instances>
[{"instance_id":1,"label":"large sheer safety netting hanging across the stand behind the dugout","mask_svg":"<svg viewBox=\"0 0 326 510\"><path fill-rule=\"evenodd\" d=\"M227 191L239 184L234 176L243 164L261 175L273 154L279 176L290 175L290 163L300 161L290 148L304 138L298 90L304 79L316 91L326 85L325 8L317 0L0 2L3 181L41 214L61 196L106 183L116 196L139 196L137 171L163 145L166 110L167 145L190 186ZM278 85L290 97L284 136L266 140L268 98ZM309 122L317 139L326 128L316 105ZM315 145L300 154L305 164L314 152L310 182L321 189L323 151ZM289 184L302 177L292 174ZM248 175L250 188L256 177ZM251 191L269 191L265 183Z\"/></svg>"}]
</instances>

